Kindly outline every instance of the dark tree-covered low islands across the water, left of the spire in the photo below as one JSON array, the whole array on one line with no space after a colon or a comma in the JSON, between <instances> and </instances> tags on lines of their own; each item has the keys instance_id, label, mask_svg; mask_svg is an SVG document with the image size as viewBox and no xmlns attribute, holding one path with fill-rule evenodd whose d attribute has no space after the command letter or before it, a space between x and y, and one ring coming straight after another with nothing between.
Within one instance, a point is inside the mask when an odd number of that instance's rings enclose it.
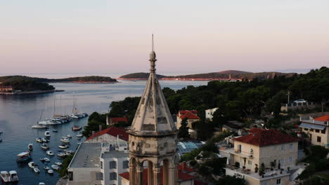
<instances>
[{"instance_id":1,"label":"dark tree-covered low islands across the water, left of the spire","mask_svg":"<svg viewBox=\"0 0 329 185\"><path fill-rule=\"evenodd\" d=\"M34 78L30 76L0 76L0 95L20 95L54 93L56 90L49 83L117 83L108 76L82 76L72 78Z\"/></svg>"}]
</instances>

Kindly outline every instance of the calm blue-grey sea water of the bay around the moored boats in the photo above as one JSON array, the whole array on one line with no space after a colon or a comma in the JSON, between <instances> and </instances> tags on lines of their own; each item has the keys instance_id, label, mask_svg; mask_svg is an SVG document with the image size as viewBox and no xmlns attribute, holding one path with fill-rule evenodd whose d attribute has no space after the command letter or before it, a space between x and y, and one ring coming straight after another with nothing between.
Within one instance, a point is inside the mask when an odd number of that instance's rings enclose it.
<instances>
[{"instance_id":1,"label":"calm blue-grey sea water of the bay around the moored boats","mask_svg":"<svg viewBox=\"0 0 329 185\"><path fill-rule=\"evenodd\" d=\"M35 141L37 137L44 137L45 130L32 129L31 126L39 118L50 118L53 114L70 114L73 102L80 112L91 114L93 111L108 112L112 101L123 100L125 97L141 96L146 81L120 81L121 83L104 84L79 84L79 83L52 83L59 93L42 95L2 95L0 96L0 130L4 133L0 142L0 171L16 170L20 181L18 184L32 185L44 181L47 185L56 184L59 176L55 172L49 175L43 170L44 163L39 158L47 157L45 151L40 149L40 144ZM162 88L169 87L174 90L186 85L206 85L207 81L160 81ZM41 114L42 113L42 114ZM52 151L58 151L60 138L72 135L70 150L77 149L77 132L72 131L73 125L84 126L87 118L52 126L58 132L51 132ZM83 141L84 139L82 139ZM27 163L15 162L16 155L27 151L27 144L33 143L32 160L39 165L41 173L36 174L27 166ZM57 156L49 157L49 165L61 161Z\"/></svg>"}]
</instances>

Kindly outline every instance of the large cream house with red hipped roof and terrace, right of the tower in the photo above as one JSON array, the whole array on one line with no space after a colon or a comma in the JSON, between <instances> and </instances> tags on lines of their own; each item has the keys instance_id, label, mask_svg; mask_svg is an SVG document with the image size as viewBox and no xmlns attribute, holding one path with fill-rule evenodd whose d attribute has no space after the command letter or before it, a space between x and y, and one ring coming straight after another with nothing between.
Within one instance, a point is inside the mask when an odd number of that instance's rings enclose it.
<instances>
[{"instance_id":1,"label":"large cream house with red hipped roof and terrace, right of the tower","mask_svg":"<svg viewBox=\"0 0 329 185\"><path fill-rule=\"evenodd\" d=\"M223 147L219 153L228 158L226 175L244 178L247 184L292 184L294 172L304 169L297 165L298 141L276 130L252 128L248 135L233 139L233 148ZM258 172L262 163L263 176Z\"/></svg>"}]
</instances>

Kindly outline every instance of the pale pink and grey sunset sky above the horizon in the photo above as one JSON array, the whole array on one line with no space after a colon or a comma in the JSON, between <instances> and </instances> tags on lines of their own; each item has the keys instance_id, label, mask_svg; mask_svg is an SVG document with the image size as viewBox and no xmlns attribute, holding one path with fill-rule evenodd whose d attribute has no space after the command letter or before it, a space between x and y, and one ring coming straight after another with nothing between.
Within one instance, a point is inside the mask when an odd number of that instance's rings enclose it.
<instances>
[{"instance_id":1,"label":"pale pink and grey sunset sky above the horizon","mask_svg":"<svg viewBox=\"0 0 329 185\"><path fill-rule=\"evenodd\" d=\"M2 0L0 74L329 66L328 0Z\"/></svg>"}]
</instances>

